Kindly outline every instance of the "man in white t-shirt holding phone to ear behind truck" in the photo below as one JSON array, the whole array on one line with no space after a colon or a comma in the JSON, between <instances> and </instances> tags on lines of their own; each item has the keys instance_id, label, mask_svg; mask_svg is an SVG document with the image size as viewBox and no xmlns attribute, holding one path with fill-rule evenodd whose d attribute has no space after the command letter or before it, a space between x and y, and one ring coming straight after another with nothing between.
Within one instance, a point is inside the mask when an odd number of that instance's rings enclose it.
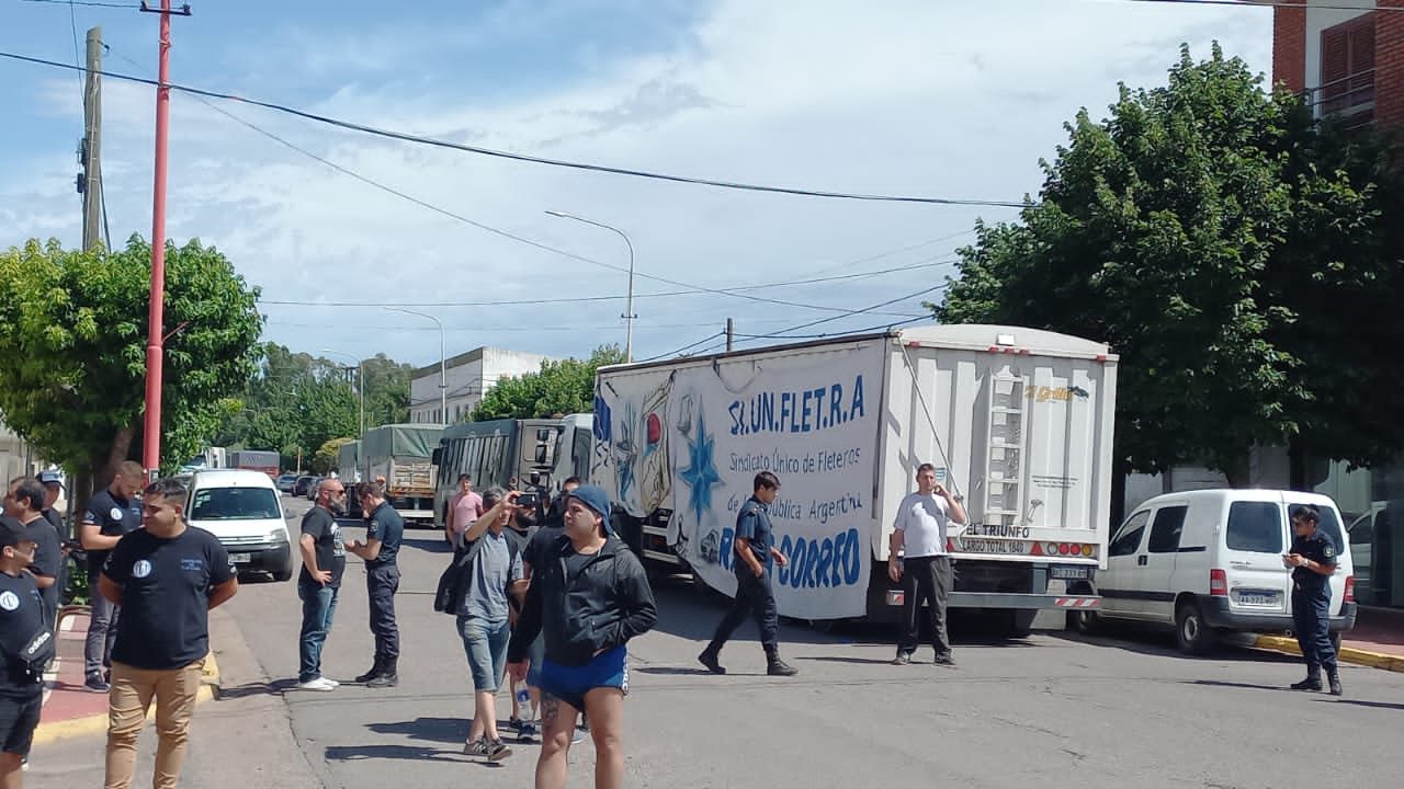
<instances>
[{"instance_id":1,"label":"man in white t-shirt holding phone to ear behind truck","mask_svg":"<svg viewBox=\"0 0 1404 789\"><path fill-rule=\"evenodd\" d=\"M927 604L931 643L936 647L936 665L955 665L951 637L946 635L946 598L951 597L951 556L946 555L948 525L966 522L965 507L945 486L936 484L936 468L917 468L917 493L908 493L897 508L893 524L887 576L901 584L903 616L897 640L897 665L911 663L917 651L917 615Z\"/></svg>"}]
</instances>

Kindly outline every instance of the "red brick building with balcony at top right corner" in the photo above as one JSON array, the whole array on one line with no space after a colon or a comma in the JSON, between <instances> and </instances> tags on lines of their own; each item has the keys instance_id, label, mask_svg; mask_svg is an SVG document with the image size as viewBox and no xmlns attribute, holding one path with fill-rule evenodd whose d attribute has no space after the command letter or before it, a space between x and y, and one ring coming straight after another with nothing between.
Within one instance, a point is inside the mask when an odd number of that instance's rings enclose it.
<instances>
[{"instance_id":1,"label":"red brick building with balcony at top right corner","mask_svg":"<svg viewBox=\"0 0 1404 789\"><path fill-rule=\"evenodd\" d=\"M1272 81L1318 117L1404 126L1404 0L1273 8Z\"/></svg>"}]
</instances>

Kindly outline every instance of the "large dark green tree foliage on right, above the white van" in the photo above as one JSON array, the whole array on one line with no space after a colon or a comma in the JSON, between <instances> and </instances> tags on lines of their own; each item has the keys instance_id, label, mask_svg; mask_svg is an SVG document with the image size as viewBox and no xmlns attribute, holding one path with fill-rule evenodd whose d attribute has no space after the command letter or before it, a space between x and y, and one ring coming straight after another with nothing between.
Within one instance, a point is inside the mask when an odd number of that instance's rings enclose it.
<instances>
[{"instance_id":1,"label":"large dark green tree foliage on right, above the white van","mask_svg":"<svg viewBox=\"0 0 1404 789\"><path fill-rule=\"evenodd\" d=\"M1370 437L1338 427L1358 418L1342 397L1404 416L1390 389L1356 385L1404 383L1384 369L1398 365L1355 354L1344 368L1334 352L1401 293L1383 143L1313 122L1217 46L1199 63L1185 48L1165 87L1122 86L1108 119L1084 110L1067 132L1040 202L960 251L939 320L1111 343L1118 453L1141 470L1206 462L1241 483L1254 445L1310 438L1362 463L1397 451L1404 420ZM1338 298L1373 309L1341 320Z\"/></svg>"}]
</instances>

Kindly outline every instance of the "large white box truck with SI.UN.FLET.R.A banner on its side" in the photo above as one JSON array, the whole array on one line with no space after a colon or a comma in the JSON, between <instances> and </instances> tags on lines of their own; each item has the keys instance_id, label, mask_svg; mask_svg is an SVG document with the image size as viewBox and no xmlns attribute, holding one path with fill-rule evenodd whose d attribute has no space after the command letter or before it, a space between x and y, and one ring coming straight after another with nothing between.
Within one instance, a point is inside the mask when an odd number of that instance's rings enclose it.
<instances>
[{"instance_id":1,"label":"large white box truck with SI.UN.FLET.R.A banner on its side","mask_svg":"<svg viewBox=\"0 0 1404 789\"><path fill-rule=\"evenodd\" d=\"M734 594L736 512L774 472L781 614L893 619L892 524L934 463L967 512L951 605L1022 635L1039 609L1101 604L1116 361L1050 331L928 326L608 366L591 480L646 563Z\"/></svg>"}]
</instances>

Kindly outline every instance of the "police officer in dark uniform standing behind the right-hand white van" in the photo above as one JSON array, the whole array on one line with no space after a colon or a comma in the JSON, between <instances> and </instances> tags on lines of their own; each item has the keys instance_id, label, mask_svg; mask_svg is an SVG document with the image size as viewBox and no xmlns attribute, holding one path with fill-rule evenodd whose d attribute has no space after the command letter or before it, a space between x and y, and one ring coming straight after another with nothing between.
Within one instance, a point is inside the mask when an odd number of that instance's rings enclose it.
<instances>
[{"instance_id":1,"label":"police officer in dark uniform standing behind the right-hand white van","mask_svg":"<svg viewBox=\"0 0 1404 789\"><path fill-rule=\"evenodd\" d=\"M1331 695L1339 696L1341 671L1335 664L1331 644L1331 574L1335 573L1335 542L1321 531L1321 514L1316 507L1292 510L1290 553L1282 563L1292 567L1292 622L1302 657L1307 663L1307 678L1292 685L1293 691L1320 691L1321 668L1325 667Z\"/></svg>"}]
</instances>

